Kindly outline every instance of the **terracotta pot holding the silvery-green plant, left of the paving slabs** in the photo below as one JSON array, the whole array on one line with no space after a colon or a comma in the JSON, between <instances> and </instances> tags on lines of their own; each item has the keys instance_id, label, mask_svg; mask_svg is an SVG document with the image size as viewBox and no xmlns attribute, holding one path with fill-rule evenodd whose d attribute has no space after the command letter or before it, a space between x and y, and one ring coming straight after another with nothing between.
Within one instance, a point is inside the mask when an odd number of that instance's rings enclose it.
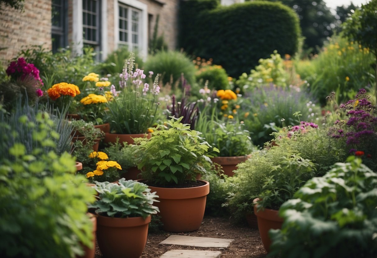
<instances>
[{"instance_id":1,"label":"terracotta pot holding the silvery-green plant, left of the paving slabs","mask_svg":"<svg viewBox=\"0 0 377 258\"><path fill-rule=\"evenodd\" d=\"M110 218L98 216L97 241L107 258L139 258L147 243L151 216Z\"/></svg>"}]
</instances>

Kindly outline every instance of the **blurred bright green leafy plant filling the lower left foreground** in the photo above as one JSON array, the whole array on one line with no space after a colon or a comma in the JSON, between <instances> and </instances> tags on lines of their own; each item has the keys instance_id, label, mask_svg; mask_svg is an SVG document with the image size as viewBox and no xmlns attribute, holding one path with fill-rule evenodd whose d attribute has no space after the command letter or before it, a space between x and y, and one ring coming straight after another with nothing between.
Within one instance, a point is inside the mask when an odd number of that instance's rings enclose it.
<instances>
[{"instance_id":1,"label":"blurred bright green leafy plant filling the lower left foreground","mask_svg":"<svg viewBox=\"0 0 377 258\"><path fill-rule=\"evenodd\" d=\"M0 132L0 256L83 255L82 244L93 247L86 216L93 193L75 175L74 158L55 152L59 135L49 114L17 105L0 115Z\"/></svg>"}]
</instances>

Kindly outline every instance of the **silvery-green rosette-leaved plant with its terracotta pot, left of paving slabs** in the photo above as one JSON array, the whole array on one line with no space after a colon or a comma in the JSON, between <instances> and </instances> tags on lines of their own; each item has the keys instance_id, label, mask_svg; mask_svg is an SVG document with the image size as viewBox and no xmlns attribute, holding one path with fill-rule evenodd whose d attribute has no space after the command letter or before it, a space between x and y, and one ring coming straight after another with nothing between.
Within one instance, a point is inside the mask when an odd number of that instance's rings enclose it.
<instances>
[{"instance_id":1,"label":"silvery-green rosette-leaved plant with its terracotta pot, left of paving slabs","mask_svg":"<svg viewBox=\"0 0 377 258\"><path fill-rule=\"evenodd\" d=\"M147 243L151 215L159 209L156 192L146 184L121 178L118 184L96 182L97 201L89 208L97 217L97 239L102 254L113 258L138 258Z\"/></svg>"}]
</instances>

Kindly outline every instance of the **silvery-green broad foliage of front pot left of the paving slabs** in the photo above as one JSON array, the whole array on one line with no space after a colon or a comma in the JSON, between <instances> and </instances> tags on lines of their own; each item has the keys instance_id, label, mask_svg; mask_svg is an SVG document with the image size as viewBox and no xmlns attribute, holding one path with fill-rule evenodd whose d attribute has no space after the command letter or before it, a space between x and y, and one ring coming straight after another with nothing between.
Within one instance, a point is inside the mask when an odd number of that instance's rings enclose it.
<instances>
[{"instance_id":1,"label":"silvery-green broad foliage of front pot left of the paving slabs","mask_svg":"<svg viewBox=\"0 0 377 258\"><path fill-rule=\"evenodd\" d=\"M153 202L159 202L156 192L151 193L146 184L121 178L118 184L96 182L98 200L89 205L101 216L115 218L143 217L159 212Z\"/></svg>"}]
</instances>

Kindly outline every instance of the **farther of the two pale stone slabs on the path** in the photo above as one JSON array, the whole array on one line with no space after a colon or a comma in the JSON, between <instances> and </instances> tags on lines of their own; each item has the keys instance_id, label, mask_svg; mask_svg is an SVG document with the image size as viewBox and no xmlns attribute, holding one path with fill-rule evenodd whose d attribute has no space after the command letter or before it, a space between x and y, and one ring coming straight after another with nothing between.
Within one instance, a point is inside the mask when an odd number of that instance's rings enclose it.
<instances>
[{"instance_id":1,"label":"farther of the two pale stone slabs on the path","mask_svg":"<svg viewBox=\"0 0 377 258\"><path fill-rule=\"evenodd\" d=\"M190 237L185 235L170 235L159 244L174 244L176 246L193 247L224 247L227 248L234 239L212 237Z\"/></svg>"}]
</instances>

